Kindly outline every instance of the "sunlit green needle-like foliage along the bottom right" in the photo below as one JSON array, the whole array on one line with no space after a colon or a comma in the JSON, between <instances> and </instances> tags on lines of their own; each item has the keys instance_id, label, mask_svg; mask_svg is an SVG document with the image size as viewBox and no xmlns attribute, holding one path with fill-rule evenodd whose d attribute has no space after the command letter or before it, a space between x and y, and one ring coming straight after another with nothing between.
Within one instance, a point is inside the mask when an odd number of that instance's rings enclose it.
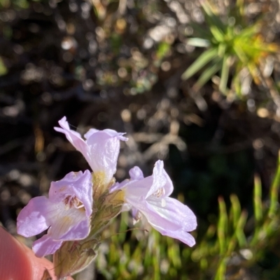
<instances>
[{"instance_id":1,"label":"sunlit green needle-like foliage along the bottom right","mask_svg":"<svg viewBox=\"0 0 280 280\"><path fill-rule=\"evenodd\" d=\"M218 222L211 224L193 248L127 226L128 214L112 223L104 234L97 268L106 279L240 279L250 267L260 270L267 250L279 235L280 158L269 200L262 200L260 178L255 175L253 212L242 210L235 194L227 207L218 199ZM227 209L228 208L228 209ZM146 226L144 227L146 228ZM128 229L128 231L127 231ZM244 276L244 275L243 275ZM259 279L265 279L265 272Z\"/></svg>"}]
</instances>

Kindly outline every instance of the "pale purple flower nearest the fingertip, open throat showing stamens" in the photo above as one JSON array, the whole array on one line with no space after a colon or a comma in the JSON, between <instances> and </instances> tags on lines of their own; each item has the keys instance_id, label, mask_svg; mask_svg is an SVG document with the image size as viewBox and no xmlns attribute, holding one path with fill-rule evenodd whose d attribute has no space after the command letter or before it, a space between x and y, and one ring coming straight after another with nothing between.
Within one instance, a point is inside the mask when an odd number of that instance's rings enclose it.
<instances>
[{"instance_id":1,"label":"pale purple flower nearest the fingertip, open throat showing stamens","mask_svg":"<svg viewBox=\"0 0 280 280\"><path fill-rule=\"evenodd\" d=\"M50 184L49 198L31 198L18 215L18 233L31 237L48 229L34 242L33 251L42 257L55 253L66 240L83 240L90 233L92 175L70 172Z\"/></svg>"}]
</instances>

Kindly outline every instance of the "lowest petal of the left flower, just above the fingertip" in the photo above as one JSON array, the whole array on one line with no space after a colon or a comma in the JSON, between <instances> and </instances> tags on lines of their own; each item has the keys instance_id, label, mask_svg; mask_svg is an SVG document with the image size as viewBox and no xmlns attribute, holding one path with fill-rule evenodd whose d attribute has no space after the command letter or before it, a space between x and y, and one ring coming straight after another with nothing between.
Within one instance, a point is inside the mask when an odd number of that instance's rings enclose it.
<instances>
[{"instance_id":1,"label":"lowest petal of the left flower, just above the fingertip","mask_svg":"<svg viewBox=\"0 0 280 280\"><path fill-rule=\"evenodd\" d=\"M32 249L38 258L55 253L62 246L63 241L52 240L49 235L44 235L33 242Z\"/></svg>"}]
</instances>

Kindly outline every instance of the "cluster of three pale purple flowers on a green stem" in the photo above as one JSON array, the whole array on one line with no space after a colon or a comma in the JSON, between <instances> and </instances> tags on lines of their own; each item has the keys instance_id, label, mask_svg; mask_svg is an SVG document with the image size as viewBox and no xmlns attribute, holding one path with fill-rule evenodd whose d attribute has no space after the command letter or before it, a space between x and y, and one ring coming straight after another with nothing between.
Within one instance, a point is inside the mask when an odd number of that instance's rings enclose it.
<instances>
[{"instance_id":1,"label":"cluster of three pale purple flowers on a green stem","mask_svg":"<svg viewBox=\"0 0 280 280\"><path fill-rule=\"evenodd\" d=\"M20 235L31 237L48 230L33 244L36 256L62 251L64 246L71 249L80 244L83 247L96 238L109 219L129 210L135 222L146 216L148 223L162 235L189 246L195 244L193 236L188 233L197 226L195 214L186 205L169 197L174 188L162 161L155 163L151 176L145 178L135 166L130 170L130 179L115 182L113 175L120 140L127 140L123 136L125 133L92 128L83 139L69 128L66 117L59 121L59 126L55 130L64 133L73 147L83 154L92 172L70 172L51 183L48 198L32 198L22 209L18 216ZM71 261L78 263L78 260Z\"/></svg>"}]
</instances>

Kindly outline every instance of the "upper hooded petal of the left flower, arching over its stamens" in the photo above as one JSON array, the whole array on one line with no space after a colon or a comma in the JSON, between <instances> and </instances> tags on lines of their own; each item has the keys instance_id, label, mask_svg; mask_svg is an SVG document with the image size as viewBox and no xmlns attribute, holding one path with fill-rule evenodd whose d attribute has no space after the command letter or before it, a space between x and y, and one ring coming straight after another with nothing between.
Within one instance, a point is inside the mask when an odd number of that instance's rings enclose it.
<instances>
[{"instance_id":1,"label":"upper hooded petal of the left flower, arching over its stamens","mask_svg":"<svg viewBox=\"0 0 280 280\"><path fill-rule=\"evenodd\" d=\"M49 198L52 202L60 202L67 196L76 196L85 206L87 216L92 214L92 175L89 170L70 172L50 184Z\"/></svg>"}]
</instances>

